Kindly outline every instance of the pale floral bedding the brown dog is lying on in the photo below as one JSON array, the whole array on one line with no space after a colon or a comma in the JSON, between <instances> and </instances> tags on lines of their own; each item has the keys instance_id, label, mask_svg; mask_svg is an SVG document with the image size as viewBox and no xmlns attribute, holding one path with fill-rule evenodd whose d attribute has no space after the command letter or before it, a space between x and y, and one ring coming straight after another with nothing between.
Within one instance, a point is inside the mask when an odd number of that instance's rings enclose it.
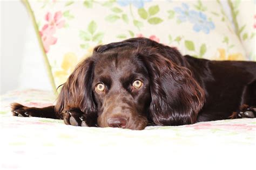
<instances>
[{"instance_id":1,"label":"pale floral bedding the brown dog is lying on","mask_svg":"<svg viewBox=\"0 0 256 170\"><path fill-rule=\"evenodd\" d=\"M12 102L45 107L54 104L55 98L50 91L39 90L1 96L0 169L255 167L255 118L134 131L11 116Z\"/></svg>"}]
</instances>

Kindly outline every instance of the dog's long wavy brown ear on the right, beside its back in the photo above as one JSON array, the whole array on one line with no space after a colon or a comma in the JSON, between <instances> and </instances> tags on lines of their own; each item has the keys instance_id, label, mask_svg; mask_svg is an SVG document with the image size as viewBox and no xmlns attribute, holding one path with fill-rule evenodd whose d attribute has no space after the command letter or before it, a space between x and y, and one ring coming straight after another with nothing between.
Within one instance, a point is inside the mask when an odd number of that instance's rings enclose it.
<instances>
[{"instance_id":1,"label":"dog's long wavy brown ear on the right, beside its back","mask_svg":"<svg viewBox=\"0 0 256 170\"><path fill-rule=\"evenodd\" d=\"M180 54L176 49L172 50L176 51L176 55ZM168 54L161 54L157 48L144 49L142 53L151 78L150 117L157 125L195 123L205 101L204 90L192 77L190 70L164 55Z\"/></svg>"}]
</instances>

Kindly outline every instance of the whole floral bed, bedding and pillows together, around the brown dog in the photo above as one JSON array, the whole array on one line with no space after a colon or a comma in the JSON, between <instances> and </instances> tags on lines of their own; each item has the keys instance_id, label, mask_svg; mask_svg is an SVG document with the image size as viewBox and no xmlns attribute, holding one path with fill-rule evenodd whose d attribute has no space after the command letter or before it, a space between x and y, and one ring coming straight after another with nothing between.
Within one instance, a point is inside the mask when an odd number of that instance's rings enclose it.
<instances>
[{"instance_id":1,"label":"whole floral bed, bedding and pillows together, around the brown dog","mask_svg":"<svg viewBox=\"0 0 256 170\"><path fill-rule=\"evenodd\" d=\"M255 169L256 118L136 131L13 117L10 111L12 102L29 107L54 104L56 87L94 46L125 38L147 37L197 58L256 61L255 1L226 1L230 17L220 1L24 4L32 16L52 90L14 90L1 96L0 169ZM199 20L190 20L186 12Z\"/></svg>"}]
</instances>

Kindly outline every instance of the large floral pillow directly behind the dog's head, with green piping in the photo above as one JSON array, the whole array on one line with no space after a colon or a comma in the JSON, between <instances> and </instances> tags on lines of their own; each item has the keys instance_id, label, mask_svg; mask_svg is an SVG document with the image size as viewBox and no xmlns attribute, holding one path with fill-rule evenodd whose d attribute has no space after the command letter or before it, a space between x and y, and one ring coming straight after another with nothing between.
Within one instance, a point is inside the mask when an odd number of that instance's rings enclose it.
<instances>
[{"instance_id":1,"label":"large floral pillow directly behind the dog's head, with green piping","mask_svg":"<svg viewBox=\"0 0 256 170\"><path fill-rule=\"evenodd\" d=\"M53 88L93 47L147 37L210 60L248 60L219 1L25 1L45 52ZM31 12L32 13L32 12Z\"/></svg>"}]
</instances>

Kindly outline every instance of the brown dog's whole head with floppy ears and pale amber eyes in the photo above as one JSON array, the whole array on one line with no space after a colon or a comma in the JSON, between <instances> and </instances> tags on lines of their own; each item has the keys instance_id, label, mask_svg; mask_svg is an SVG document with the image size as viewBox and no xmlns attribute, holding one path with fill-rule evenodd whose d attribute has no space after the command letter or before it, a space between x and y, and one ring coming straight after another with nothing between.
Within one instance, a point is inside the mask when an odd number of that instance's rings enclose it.
<instances>
[{"instance_id":1,"label":"brown dog's whole head with floppy ears and pale amber eyes","mask_svg":"<svg viewBox=\"0 0 256 170\"><path fill-rule=\"evenodd\" d=\"M185 64L176 49L145 38L98 46L64 83L56 111L78 108L100 127L194 123L204 92Z\"/></svg>"}]
</instances>

